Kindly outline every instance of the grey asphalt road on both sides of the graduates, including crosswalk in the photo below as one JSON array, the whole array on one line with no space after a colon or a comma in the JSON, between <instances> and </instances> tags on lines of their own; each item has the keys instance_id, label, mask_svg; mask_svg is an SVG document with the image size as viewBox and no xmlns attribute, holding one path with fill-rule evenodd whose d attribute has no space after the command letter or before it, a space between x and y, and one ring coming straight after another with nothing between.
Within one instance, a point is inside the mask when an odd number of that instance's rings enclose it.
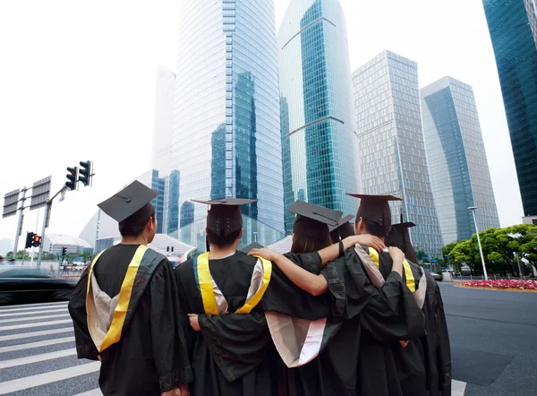
<instances>
[{"instance_id":1,"label":"grey asphalt road on both sides of the graduates, including crosswalk","mask_svg":"<svg viewBox=\"0 0 537 396\"><path fill-rule=\"evenodd\" d=\"M537 293L441 283L454 395L537 395ZM67 303L0 307L0 395L98 396L98 362L78 360Z\"/></svg>"}]
</instances>

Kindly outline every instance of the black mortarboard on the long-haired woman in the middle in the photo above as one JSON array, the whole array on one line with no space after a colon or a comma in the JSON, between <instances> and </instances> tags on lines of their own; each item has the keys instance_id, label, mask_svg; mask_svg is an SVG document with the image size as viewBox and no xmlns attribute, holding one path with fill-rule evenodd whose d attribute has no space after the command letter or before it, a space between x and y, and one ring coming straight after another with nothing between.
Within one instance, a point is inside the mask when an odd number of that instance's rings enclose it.
<instances>
[{"instance_id":1,"label":"black mortarboard on the long-haired woman in the middle","mask_svg":"<svg viewBox=\"0 0 537 396\"><path fill-rule=\"evenodd\" d=\"M293 233L303 237L318 237L328 235L328 227L337 227L337 221L343 214L312 203L297 201L287 208L296 214Z\"/></svg>"}]
</instances>

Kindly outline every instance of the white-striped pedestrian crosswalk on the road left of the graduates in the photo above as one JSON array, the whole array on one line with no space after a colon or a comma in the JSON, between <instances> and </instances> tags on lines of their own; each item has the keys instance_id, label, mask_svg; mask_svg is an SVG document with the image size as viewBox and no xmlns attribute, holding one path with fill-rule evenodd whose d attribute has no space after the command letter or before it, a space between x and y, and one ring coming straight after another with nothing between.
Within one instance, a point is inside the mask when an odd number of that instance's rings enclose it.
<instances>
[{"instance_id":1,"label":"white-striped pedestrian crosswalk on the road left of the graduates","mask_svg":"<svg viewBox=\"0 0 537 396\"><path fill-rule=\"evenodd\" d=\"M0 395L102 396L99 368L76 357L66 302L0 307Z\"/></svg>"}]
</instances>

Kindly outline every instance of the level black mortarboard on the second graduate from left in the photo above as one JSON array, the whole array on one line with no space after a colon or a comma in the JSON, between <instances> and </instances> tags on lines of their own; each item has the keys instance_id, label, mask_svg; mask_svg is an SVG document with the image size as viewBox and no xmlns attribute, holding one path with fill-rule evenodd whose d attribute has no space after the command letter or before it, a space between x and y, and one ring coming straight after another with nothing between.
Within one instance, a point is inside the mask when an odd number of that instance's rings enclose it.
<instances>
[{"instance_id":1,"label":"level black mortarboard on the second graduate from left","mask_svg":"<svg viewBox=\"0 0 537 396\"><path fill-rule=\"evenodd\" d=\"M207 214L207 228L217 234L218 237L227 237L234 231L243 228L241 206L257 200L225 198L214 201L191 201L210 205Z\"/></svg>"}]
</instances>

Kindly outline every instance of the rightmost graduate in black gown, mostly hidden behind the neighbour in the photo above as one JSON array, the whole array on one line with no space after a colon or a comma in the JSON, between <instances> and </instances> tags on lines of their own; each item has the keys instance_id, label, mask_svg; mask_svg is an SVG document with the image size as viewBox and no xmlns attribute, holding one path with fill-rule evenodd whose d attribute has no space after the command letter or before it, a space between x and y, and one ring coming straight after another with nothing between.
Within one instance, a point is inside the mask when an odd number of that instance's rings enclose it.
<instances>
[{"instance_id":1,"label":"rightmost graduate in black gown, mostly hidden behind the neighbour","mask_svg":"<svg viewBox=\"0 0 537 396\"><path fill-rule=\"evenodd\" d=\"M386 238L386 244L397 246L403 250L407 259L412 262L415 272L417 264L414 263L418 263L418 259L408 232L408 229L412 227L415 227L413 223L394 224ZM424 352L427 394L429 396L449 396L451 395L451 352L446 314L438 283L432 278L429 271L425 271L425 277L427 292L422 310L425 314L427 335L422 337L420 341Z\"/></svg>"}]
</instances>

